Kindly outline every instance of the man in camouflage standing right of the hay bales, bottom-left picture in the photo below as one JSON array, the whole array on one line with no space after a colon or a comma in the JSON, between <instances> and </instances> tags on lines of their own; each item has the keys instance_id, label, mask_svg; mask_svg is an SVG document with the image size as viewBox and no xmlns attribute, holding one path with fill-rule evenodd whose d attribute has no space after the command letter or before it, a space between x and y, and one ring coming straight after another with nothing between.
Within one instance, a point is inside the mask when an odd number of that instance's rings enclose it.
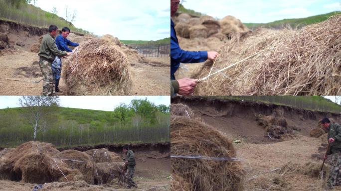
<instances>
[{"instance_id":1,"label":"man in camouflage standing right of the hay bales, bottom-left picture","mask_svg":"<svg viewBox=\"0 0 341 191\"><path fill-rule=\"evenodd\" d=\"M129 150L128 145L125 145L123 147L123 153L126 154L125 166L128 169L128 175L127 175L128 189L132 187L137 188L137 185L133 181L134 174L135 174L135 165L136 165L134 152L132 150Z\"/></svg>"}]
</instances>

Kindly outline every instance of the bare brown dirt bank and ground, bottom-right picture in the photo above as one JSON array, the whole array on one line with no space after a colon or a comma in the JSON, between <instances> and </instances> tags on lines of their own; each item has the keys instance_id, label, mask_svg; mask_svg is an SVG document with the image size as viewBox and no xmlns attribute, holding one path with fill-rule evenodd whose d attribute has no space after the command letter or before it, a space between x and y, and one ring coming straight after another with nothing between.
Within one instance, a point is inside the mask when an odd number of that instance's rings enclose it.
<instances>
[{"instance_id":1,"label":"bare brown dirt bank and ground, bottom-right picture","mask_svg":"<svg viewBox=\"0 0 341 191\"><path fill-rule=\"evenodd\" d=\"M196 117L201 117L205 123L217 128L231 140L240 141L234 146L237 157L245 160L246 191L323 191L325 179L321 181L317 177L292 172L281 173L275 169L288 163L305 165L310 162L319 167L322 165L327 140L310 137L309 132L317 127L319 119L326 113L316 112L311 117L303 117L304 115L299 114L302 110L296 112L273 105L190 98L172 99L171 102L188 105ZM301 129L294 131L292 139L270 139L255 120L255 115L271 115L278 113L278 110L283 111L288 125L297 125ZM329 160L327 164L330 163ZM269 172L272 170L275 171ZM341 187L336 187L335 190L341 191Z\"/></svg>"}]
</instances>

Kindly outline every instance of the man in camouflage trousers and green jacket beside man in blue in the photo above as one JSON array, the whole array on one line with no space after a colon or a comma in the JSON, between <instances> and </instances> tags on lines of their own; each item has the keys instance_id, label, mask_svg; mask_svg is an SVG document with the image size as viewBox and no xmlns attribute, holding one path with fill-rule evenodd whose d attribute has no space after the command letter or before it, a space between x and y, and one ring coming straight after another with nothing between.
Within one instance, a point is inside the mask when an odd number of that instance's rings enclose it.
<instances>
[{"instance_id":1,"label":"man in camouflage trousers and green jacket beside man in blue","mask_svg":"<svg viewBox=\"0 0 341 191\"><path fill-rule=\"evenodd\" d=\"M55 80L52 74L52 62L55 57L71 55L71 53L60 51L56 46L55 36L58 33L58 27L51 25L48 28L49 33L45 34L41 41L39 50L39 67L43 76L43 95L55 95Z\"/></svg>"}]
</instances>

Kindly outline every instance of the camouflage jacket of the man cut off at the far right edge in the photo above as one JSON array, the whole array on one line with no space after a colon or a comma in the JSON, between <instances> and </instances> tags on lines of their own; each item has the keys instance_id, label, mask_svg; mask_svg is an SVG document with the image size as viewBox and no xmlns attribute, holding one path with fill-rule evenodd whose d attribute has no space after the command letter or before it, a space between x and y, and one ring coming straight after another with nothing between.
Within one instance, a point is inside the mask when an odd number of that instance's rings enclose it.
<instances>
[{"instance_id":1,"label":"camouflage jacket of the man cut off at the far right edge","mask_svg":"<svg viewBox=\"0 0 341 191\"><path fill-rule=\"evenodd\" d=\"M338 123L331 123L327 130L328 139L335 139L335 141L330 144L330 151L328 152L328 154L341 152L341 126Z\"/></svg>"}]
</instances>

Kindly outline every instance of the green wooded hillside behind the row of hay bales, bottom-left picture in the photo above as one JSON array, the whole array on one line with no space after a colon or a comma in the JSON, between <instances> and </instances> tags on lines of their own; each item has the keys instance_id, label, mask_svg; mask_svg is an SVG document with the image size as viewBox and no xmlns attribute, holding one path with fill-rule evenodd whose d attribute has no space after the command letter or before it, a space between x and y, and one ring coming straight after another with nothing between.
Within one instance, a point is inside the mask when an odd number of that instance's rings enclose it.
<instances>
[{"instance_id":1,"label":"green wooded hillside behind the row of hay bales, bottom-left picture","mask_svg":"<svg viewBox=\"0 0 341 191\"><path fill-rule=\"evenodd\" d=\"M0 147L15 147L33 138L33 128L22 108L0 109ZM126 124L113 111L59 107L40 121L37 140L57 147L105 143L169 142L170 113L156 113L156 122L133 115Z\"/></svg>"}]
</instances>

